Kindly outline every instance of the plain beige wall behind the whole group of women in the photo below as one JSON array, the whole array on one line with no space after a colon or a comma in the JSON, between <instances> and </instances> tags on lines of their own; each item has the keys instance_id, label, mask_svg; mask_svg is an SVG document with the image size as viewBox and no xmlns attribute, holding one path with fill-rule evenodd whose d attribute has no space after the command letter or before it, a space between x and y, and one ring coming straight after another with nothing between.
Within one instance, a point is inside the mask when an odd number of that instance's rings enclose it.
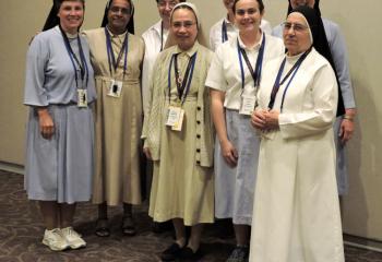
<instances>
[{"instance_id":1,"label":"plain beige wall behind the whole group of women","mask_svg":"<svg viewBox=\"0 0 382 262\"><path fill-rule=\"evenodd\" d=\"M100 23L105 0L87 0L84 28ZM220 0L194 0L204 32L223 14ZM286 0L265 0L266 19L276 25L286 13ZM44 24L50 0L1 1L0 10L0 162L23 165L24 122L22 106L27 43ZM154 0L135 0L136 33L158 20ZM350 191L344 198L344 230L382 240L382 43L379 0L321 0L322 13L336 21L347 40L358 106L357 132L349 143Z\"/></svg>"}]
</instances>

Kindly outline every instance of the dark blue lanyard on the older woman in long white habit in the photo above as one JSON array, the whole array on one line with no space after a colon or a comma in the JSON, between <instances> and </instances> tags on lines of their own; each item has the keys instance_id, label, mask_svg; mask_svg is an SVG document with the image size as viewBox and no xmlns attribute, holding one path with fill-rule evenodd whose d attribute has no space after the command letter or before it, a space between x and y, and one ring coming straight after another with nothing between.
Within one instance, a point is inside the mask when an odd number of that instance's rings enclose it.
<instances>
[{"instance_id":1,"label":"dark blue lanyard on the older woman in long white habit","mask_svg":"<svg viewBox=\"0 0 382 262\"><path fill-rule=\"evenodd\" d=\"M284 108L284 100L285 100L285 96L286 96L286 93L289 88L289 85L291 83L291 81L295 79L295 75L297 73L297 71L300 69L303 60L307 58L307 56L309 55L309 52L311 51L311 48L309 48L298 60L297 62L294 64L294 67L288 71L288 73L284 76L284 79L282 80L282 75L283 75L283 72L284 72L284 68L285 68L285 63L286 63L286 58L284 58L279 69L278 69L278 73L277 73L277 76L276 76L276 80L275 80L275 83L273 85L273 88L272 88L272 93L271 93L271 99L270 99L270 103L268 103L268 109L272 110L273 109L273 106L275 104L275 100L276 100L276 96L277 96L277 93L278 93L278 90L279 90L279 86L282 86L285 81L291 75L290 80L288 81L288 84L287 86L285 87L284 90L284 93L283 93L283 97L282 97L282 105L280 105L280 112L283 111L283 108Z\"/></svg>"}]
</instances>

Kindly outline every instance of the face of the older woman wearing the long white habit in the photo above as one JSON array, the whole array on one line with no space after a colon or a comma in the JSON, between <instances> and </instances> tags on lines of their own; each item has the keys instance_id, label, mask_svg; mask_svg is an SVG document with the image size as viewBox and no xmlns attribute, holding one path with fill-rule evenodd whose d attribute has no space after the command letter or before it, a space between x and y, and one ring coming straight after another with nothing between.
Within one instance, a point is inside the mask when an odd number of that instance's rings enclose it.
<instances>
[{"instance_id":1,"label":"face of the older woman wearing the long white habit","mask_svg":"<svg viewBox=\"0 0 382 262\"><path fill-rule=\"evenodd\" d=\"M307 51L312 45L309 26L300 13L290 13L284 23L283 38L289 56Z\"/></svg>"}]
</instances>

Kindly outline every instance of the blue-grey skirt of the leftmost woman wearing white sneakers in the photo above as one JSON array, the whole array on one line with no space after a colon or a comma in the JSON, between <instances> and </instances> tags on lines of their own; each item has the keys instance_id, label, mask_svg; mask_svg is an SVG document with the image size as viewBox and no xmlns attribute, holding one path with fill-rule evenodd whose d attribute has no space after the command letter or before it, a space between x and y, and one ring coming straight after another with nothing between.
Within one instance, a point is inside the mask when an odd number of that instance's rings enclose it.
<instances>
[{"instance_id":1,"label":"blue-grey skirt of the leftmost woman wearing white sneakers","mask_svg":"<svg viewBox=\"0 0 382 262\"><path fill-rule=\"evenodd\" d=\"M24 186L31 200L88 201L94 167L94 120L91 108L50 105L55 123L50 140L41 136L31 107L26 133Z\"/></svg>"}]
</instances>

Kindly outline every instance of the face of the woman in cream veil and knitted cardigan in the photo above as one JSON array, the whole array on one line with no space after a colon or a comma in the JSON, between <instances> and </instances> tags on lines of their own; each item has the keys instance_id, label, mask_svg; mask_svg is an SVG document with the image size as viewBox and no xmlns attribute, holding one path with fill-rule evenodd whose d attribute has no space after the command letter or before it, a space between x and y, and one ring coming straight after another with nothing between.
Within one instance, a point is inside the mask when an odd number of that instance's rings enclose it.
<instances>
[{"instance_id":1,"label":"face of the woman in cream veil and knitted cardigan","mask_svg":"<svg viewBox=\"0 0 382 262\"><path fill-rule=\"evenodd\" d=\"M181 50L189 50L196 40L198 24L192 10L178 8L171 17L171 33L175 41Z\"/></svg>"}]
</instances>

